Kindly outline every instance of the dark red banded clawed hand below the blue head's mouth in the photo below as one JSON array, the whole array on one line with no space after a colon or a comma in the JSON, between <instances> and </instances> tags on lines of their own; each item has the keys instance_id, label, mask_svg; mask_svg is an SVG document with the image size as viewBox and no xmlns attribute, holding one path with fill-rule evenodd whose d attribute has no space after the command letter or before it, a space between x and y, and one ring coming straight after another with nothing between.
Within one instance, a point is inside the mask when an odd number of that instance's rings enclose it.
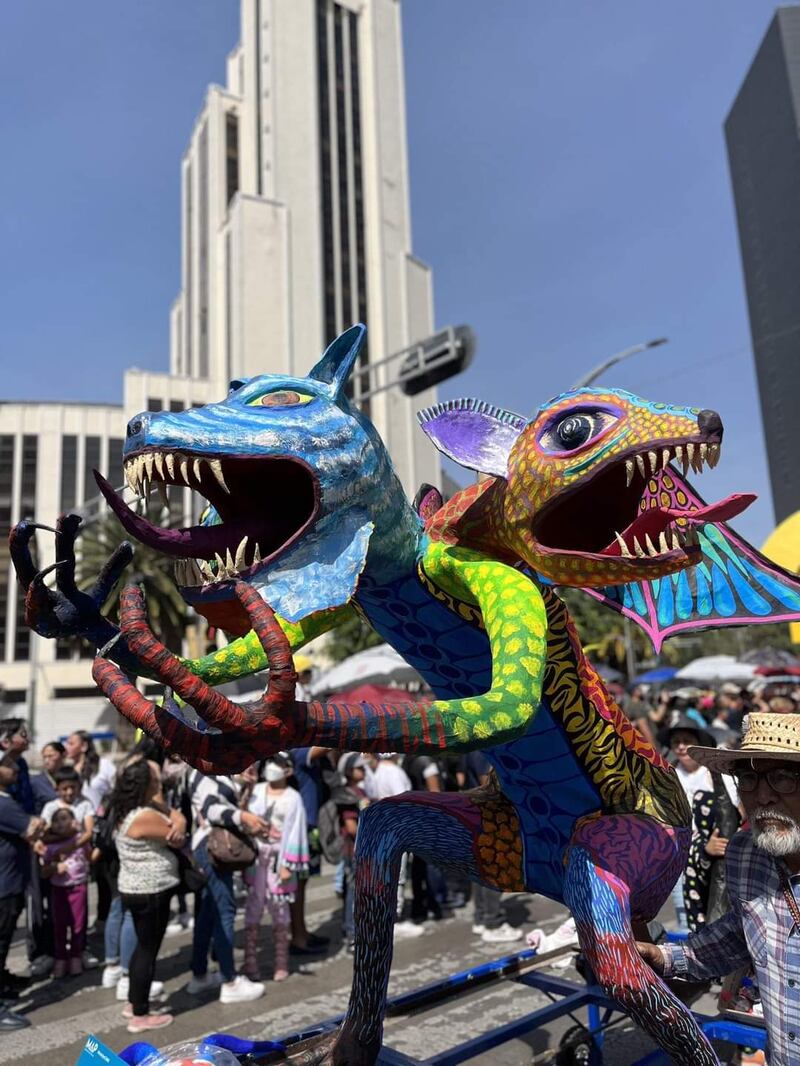
<instances>
[{"instance_id":1,"label":"dark red banded clawed hand below the blue head's mouth","mask_svg":"<svg viewBox=\"0 0 800 1066\"><path fill-rule=\"evenodd\" d=\"M113 663L97 659L92 671L102 692L128 721L192 765L214 768L206 773L244 769L256 758L304 743L307 732L301 725L305 705L294 701L297 674L286 636L254 589L238 582L235 591L270 663L266 692L246 704L234 704L215 692L164 647L149 628L140 588L128 585L121 597L121 625L131 651L213 731L196 728L171 713L169 706L156 707Z\"/></svg>"}]
</instances>

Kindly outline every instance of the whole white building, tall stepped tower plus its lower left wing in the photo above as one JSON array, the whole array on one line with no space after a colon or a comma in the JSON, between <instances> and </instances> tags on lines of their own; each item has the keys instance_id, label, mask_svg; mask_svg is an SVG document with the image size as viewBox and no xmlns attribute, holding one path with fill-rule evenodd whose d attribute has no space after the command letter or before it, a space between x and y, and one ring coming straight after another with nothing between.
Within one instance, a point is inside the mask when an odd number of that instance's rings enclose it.
<instances>
[{"instance_id":1,"label":"whole white building, tall stepped tower plus its lower left wing","mask_svg":"<svg viewBox=\"0 0 800 1066\"><path fill-rule=\"evenodd\" d=\"M234 377L304 375L326 344L366 322L355 399L386 441L409 495L441 484L435 450L397 365L433 332L431 272L412 254L398 0L241 0L241 42L224 88L209 86L181 163L181 288L170 373L129 370L124 403L0 403L0 528L52 522L96 495L92 467L122 484L125 423L224 397ZM182 511L189 513L189 490ZM174 516L180 520L180 502ZM41 539L53 560L53 538ZM75 647L31 637L0 538L0 687L25 708L35 681L41 741L113 726ZM70 698L71 697L71 698ZM16 705L16 706L15 706ZM21 705L21 708L20 708Z\"/></svg>"}]
</instances>

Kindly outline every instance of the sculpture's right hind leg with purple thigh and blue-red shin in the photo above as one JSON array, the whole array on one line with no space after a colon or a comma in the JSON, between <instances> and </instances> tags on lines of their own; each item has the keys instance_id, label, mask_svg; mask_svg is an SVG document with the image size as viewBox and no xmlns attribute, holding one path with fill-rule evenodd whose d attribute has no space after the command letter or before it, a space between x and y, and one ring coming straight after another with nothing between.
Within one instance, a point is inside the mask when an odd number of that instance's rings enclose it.
<instances>
[{"instance_id":1,"label":"sculpture's right hind leg with purple thigh and blue-red shin","mask_svg":"<svg viewBox=\"0 0 800 1066\"><path fill-rule=\"evenodd\" d=\"M718 1066L691 1012L636 950L633 918L653 918L683 871L686 830L636 814L583 822L570 845L564 901L604 991L683 1066Z\"/></svg>"}]
</instances>

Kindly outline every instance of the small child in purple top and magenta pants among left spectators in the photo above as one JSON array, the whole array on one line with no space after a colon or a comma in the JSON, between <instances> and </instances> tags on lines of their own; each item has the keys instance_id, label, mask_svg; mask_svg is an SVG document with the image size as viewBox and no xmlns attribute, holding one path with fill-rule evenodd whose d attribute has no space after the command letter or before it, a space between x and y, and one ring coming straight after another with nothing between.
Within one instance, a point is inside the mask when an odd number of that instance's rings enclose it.
<instances>
[{"instance_id":1,"label":"small child in purple top and magenta pants among left spectators","mask_svg":"<svg viewBox=\"0 0 800 1066\"><path fill-rule=\"evenodd\" d=\"M36 844L42 875L50 882L54 978L83 972L89 916L89 845L80 843L83 836L71 808L63 806L52 812L50 843Z\"/></svg>"}]
</instances>

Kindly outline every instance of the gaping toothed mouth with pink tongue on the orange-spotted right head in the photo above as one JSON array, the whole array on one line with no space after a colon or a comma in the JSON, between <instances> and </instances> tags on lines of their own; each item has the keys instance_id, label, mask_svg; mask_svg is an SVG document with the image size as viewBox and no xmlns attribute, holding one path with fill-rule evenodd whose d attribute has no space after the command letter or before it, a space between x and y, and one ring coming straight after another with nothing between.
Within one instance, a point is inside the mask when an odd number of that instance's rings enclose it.
<instances>
[{"instance_id":1,"label":"gaping toothed mouth with pink tongue on the orange-spotted right head","mask_svg":"<svg viewBox=\"0 0 800 1066\"><path fill-rule=\"evenodd\" d=\"M737 494L694 511L663 505L653 495L645 505L643 498L671 462L681 464L684 474L689 468L701 473L706 463L715 467L719 455L716 441L682 441L614 461L542 508L532 530L539 551L642 562L699 555L698 527L734 518L755 497Z\"/></svg>"}]
</instances>

